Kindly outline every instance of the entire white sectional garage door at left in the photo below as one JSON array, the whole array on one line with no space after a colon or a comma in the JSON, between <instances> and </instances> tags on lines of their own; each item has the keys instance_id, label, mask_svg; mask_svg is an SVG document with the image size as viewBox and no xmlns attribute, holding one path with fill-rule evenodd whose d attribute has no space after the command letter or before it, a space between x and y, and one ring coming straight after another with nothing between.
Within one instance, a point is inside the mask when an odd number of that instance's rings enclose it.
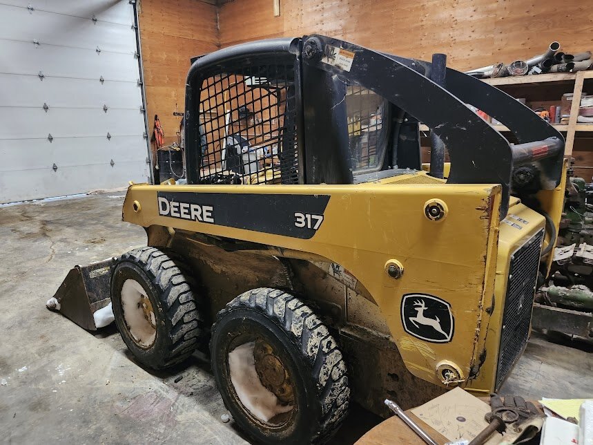
<instances>
[{"instance_id":1,"label":"entire white sectional garage door at left","mask_svg":"<svg viewBox=\"0 0 593 445\"><path fill-rule=\"evenodd\" d=\"M0 4L0 202L146 181L128 0Z\"/></svg>"}]
</instances>

